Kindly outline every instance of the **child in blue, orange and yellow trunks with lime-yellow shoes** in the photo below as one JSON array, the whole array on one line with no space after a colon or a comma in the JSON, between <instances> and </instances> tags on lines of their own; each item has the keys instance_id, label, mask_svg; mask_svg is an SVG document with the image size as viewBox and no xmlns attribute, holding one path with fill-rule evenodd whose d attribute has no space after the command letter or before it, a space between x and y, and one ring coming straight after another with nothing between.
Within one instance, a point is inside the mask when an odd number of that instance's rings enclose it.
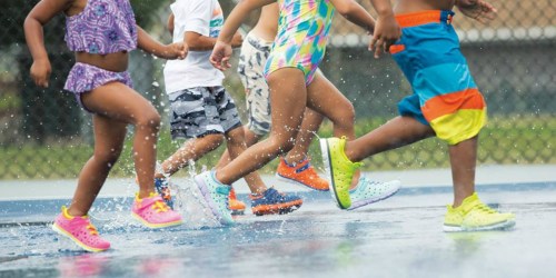
<instances>
[{"instance_id":1,"label":"child in blue, orange and yellow trunks with lime-yellow shoes","mask_svg":"<svg viewBox=\"0 0 556 278\"><path fill-rule=\"evenodd\" d=\"M497 212L475 192L477 140L486 122L486 105L459 50L451 26L454 6L479 21L496 14L483 0L398 1L395 12L403 36L389 50L414 93L398 103L399 117L357 140L321 139L322 158L331 175L331 187L339 191L339 201L349 203L342 191L347 191L359 161L436 136L448 143L454 182L454 202L448 206L444 230L513 227L514 215Z\"/></svg>"}]
</instances>

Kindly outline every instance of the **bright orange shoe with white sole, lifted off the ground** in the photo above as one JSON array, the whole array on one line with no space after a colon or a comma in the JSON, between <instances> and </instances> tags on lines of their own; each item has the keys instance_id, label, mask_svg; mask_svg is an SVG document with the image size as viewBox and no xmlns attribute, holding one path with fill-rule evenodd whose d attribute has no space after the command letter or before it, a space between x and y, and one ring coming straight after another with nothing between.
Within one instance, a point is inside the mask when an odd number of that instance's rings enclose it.
<instances>
[{"instance_id":1,"label":"bright orange shoe with white sole, lifted off the ground","mask_svg":"<svg viewBox=\"0 0 556 278\"><path fill-rule=\"evenodd\" d=\"M328 191L328 181L318 176L317 171L309 163L309 159L306 158L304 161L290 166L286 162L286 159L280 158L280 163L276 170L276 176L288 181L294 181L301 186L306 186L319 191Z\"/></svg>"}]
</instances>

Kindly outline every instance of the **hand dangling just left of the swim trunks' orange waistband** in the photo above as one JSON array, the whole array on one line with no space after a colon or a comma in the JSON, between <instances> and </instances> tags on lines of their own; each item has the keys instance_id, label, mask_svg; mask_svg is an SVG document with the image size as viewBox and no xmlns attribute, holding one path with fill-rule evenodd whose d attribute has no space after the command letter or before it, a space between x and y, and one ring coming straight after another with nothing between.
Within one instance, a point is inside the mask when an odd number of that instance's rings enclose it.
<instances>
[{"instance_id":1,"label":"hand dangling just left of the swim trunks' orange waistband","mask_svg":"<svg viewBox=\"0 0 556 278\"><path fill-rule=\"evenodd\" d=\"M369 42L369 51L375 51L375 58L380 57L380 52L386 52L401 37L401 29L399 28L394 13L386 16L379 14L375 24L373 39Z\"/></svg>"}]
</instances>

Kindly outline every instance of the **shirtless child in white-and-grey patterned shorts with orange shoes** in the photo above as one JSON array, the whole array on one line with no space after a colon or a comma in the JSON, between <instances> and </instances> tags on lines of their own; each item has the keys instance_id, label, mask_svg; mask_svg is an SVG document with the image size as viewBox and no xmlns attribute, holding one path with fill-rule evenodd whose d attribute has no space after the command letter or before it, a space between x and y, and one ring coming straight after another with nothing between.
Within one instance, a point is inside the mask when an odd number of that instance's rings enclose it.
<instances>
[{"instance_id":1,"label":"shirtless child in white-and-grey patterned shorts with orange shoes","mask_svg":"<svg viewBox=\"0 0 556 278\"><path fill-rule=\"evenodd\" d=\"M270 131L270 91L262 71L278 31L278 3L262 7L259 20L246 36L239 54L238 73L246 91L249 119L244 128L247 147L255 145ZM296 138L297 143L287 156L280 157L277 177L315 190L328 191L328 181L317 175L307 155L321 122L320 113L306 109ZM218 166L224 167L229 161L229 155L225 152Z\"/></svg>"}]
</instances>

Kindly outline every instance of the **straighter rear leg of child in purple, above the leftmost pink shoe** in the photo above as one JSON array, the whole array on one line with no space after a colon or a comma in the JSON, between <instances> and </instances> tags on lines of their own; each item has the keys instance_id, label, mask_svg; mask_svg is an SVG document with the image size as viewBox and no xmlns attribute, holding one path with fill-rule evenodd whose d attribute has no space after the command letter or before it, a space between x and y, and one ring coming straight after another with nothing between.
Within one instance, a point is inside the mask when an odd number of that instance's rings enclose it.
<instances>
[{"instance_id":1,"label":"straighter rear leg of child in purple, above the leftmost pink shoe","mask_svg":"<svg viewBox=\"0 0 556 278\"><path fill-rule=\"evenodd\" d=\"M73 199L68 209L71 216L85 216L97 198L110 169L120 157L126 138L126 122L93 115L95 152L85 163Z\"/></svg>"}]
</instances>

